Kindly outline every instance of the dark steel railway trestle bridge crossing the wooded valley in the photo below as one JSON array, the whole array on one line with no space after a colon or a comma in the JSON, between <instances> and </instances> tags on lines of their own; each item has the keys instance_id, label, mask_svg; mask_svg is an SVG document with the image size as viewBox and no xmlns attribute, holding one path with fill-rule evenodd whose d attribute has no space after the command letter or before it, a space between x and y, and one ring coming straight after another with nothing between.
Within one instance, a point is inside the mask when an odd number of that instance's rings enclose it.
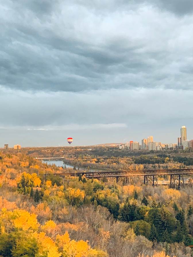
<instances>
[{"instance_id":1,"label":"dark steel railway trestle bridge crossing the wooded valley","mask_svg":"<svg viewBox=\"0 0 193 257\"><path fill-rule=\"evenodd\" d=\"M65 176L85 176L86 178L116 178L117 182L120 178L125 178L126 182L132 176L144 176L144 184L157 186L157 177L162 175L170 175L170 187L184 187L184 175L193 175L192 169L165 169L165 170L122 170L122 171L90 171L90 172L72 172L72 173L55 173L54 175Z\"/></svg>"}]
</instances>

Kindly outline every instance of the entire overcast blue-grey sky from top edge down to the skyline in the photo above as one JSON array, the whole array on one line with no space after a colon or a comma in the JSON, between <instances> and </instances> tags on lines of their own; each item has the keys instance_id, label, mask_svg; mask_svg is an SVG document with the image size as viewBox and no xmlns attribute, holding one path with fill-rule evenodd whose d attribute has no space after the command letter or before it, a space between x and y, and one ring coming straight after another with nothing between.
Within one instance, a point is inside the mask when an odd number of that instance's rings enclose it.
<instances>
[{"instance_id":1,"label":"entire overcast blue-grey sky from top edge down to the skyline","mask_svg":"<svg viewBox=\"0 0 193 257\"><path fill-rule=\"evenodd\" d=\"M192 0L0 9L0 147L193 139Z\"/></svg>"}]
</instances>

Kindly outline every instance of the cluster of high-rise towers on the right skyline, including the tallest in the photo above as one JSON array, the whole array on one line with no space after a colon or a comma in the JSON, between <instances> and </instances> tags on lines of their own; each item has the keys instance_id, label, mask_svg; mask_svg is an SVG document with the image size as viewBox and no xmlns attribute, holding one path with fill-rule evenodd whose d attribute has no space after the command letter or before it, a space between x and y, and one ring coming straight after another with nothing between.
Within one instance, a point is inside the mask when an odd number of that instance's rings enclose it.
<instances>
[{"instance_id":1,"label":"cluster of high-rise towers on the right skyline, including the tallest","mask_svg":"<svg viewBox=\"0 0 193 257\"><path fill-rule=\"evenodd\" d=\"M155 150L161 151L162 149L189 149L193 148L193 140L188 140L186 135L186 127L181 127L181 137L177 138L177 144L162 144L161 142L153 141L153 136L149 136L141 140L141 145L137 141L130 141L126 144L120 144L119 149L130 150Z\"/></svg>"}]
</instances>

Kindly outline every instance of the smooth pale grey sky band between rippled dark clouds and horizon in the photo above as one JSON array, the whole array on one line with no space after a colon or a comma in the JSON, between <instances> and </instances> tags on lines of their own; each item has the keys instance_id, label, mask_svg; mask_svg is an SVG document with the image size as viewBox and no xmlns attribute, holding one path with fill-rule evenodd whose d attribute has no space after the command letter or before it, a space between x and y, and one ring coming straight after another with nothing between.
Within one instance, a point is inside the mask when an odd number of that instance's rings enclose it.
<instances>
[{"instance_id":1,"label":"smooth pale grey sky band between rippled dark clouds and horizon","mask_svg":"<svg viewBox=\"0 0 193 257\"><path fill-rule=\"evenodd\" d=\"M140 142L151 134L175 143L182 125L192 139L192 98L193 91L174 89L34 93L0 87L0 146L64 145L69 136L75 145Z\"/></svg>"}]
</instances>

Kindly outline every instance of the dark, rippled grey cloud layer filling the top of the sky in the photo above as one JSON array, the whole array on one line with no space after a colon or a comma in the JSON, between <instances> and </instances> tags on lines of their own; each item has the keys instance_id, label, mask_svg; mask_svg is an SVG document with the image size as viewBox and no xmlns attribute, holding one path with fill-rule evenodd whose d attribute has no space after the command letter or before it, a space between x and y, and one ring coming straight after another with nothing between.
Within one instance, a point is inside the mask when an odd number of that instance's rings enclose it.
<instances>
[{"instance_id":1,"label":"dark, rippled grey cloud layer filling the top of the sky","mask_svg":"<svg viewBox=\"0 0 193 257\"><path fill-rule=\"evenodd\" d=\"M192 1L135 2L0 2L0 85L191 88Z\"/></svg>"}]
</instances>

